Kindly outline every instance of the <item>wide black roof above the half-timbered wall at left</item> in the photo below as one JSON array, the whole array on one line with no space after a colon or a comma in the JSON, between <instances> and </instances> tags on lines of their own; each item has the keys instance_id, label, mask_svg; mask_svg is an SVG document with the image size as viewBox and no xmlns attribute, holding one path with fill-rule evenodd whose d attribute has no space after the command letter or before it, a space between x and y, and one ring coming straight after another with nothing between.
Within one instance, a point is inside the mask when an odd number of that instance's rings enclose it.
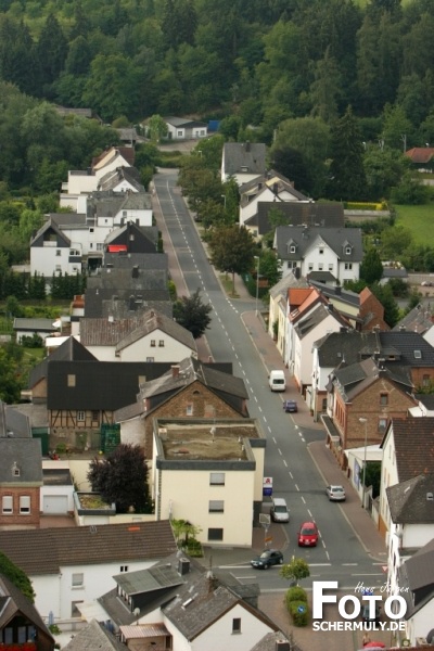
<instances>
[{"instance_id":1,"label":"wide black roof above the half-timbered wall at left","mask_svg":"<svg viewBox=\"0 0 434 651\"><path fill-rule=\"evenodd\" d=\"M158 378L170 366L146 361L50 361L47 407L115 411L136 403L143 379ZM68 386L72 375L75 386Z\"/></svg>"}]
</instances>

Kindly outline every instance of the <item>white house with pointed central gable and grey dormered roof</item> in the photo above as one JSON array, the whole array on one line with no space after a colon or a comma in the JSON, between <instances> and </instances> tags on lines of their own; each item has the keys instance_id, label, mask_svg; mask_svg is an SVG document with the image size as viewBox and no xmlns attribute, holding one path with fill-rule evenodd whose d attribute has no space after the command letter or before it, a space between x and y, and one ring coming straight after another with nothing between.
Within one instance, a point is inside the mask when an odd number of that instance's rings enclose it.
<instances>
[{"instance_id":1,"label":"white house with pointed central gable and grey dormered roof","mask_svg":"<svg viewBox=\"0 0 434 651\"><path fill-rule=\"evenodd\" d=\"M312 271L328 272L341 284L359 279L363 250L358 228L278 226L273 248L283 276L294 270L298 277L308 277Z\"/></svg>"}]
</instances>

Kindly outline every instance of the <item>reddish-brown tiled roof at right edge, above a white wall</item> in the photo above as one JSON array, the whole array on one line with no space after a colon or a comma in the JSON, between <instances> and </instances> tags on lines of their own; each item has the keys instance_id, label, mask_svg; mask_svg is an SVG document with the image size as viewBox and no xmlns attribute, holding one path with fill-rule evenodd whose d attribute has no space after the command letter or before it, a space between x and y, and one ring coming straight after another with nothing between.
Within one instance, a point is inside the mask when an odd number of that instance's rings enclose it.
<instances>
[{"instance_id":1,"label":"reddish-brown tiled roof at right edge, above a white wall","mask_svg":"<svg viewBox=\"0 0 434 651\"><path fill-rule=\"evenodd\" d=\"M434 468L434 418L394 419L392 430L398 482L432 472Z\"/></svg>"}]
</instances>

